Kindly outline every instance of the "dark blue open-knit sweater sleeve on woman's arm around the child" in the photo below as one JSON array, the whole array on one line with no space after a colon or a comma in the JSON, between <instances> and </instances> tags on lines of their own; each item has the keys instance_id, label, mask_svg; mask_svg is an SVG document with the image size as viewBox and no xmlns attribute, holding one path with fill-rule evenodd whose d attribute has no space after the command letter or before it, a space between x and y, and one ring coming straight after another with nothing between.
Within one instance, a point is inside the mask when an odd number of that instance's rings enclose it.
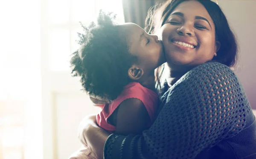
<instances>
[{"instance_id":1,"label":"dark blue open-knit sweater sleeve on woman's arm around the child","mask_svg":"<svg viewBox=\"0 0 256 159\"><path fill-rule=\"evenodd\" d=\"M250 111L236 75L217 62L185 74L163 95L161 105L157 119L143 135L109 136L105 159L194 159L202 150L239 133Z\"/></svg>"}]
</instances>

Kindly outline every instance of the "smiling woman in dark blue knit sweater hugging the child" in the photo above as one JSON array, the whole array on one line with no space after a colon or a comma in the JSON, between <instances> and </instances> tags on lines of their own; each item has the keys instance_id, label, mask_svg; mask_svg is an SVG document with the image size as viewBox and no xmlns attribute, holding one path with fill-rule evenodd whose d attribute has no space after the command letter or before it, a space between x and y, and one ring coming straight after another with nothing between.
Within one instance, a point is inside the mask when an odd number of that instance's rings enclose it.
<instances>
[{"instance_id":1,"label":"smiling woman in dark blue knit sweater hugging the child","mask_svg":"<svg viewBox=\"0 0 256 159\"><path fill-rule=\"evenodd\" d=\"M82 142L105 159L255 159L256 121L233 71L236 39L210 0L169 0L151 15L163 40L166 84L159 114L142 135L108 134L95 116Z\"/></svg>"}]
</instances>

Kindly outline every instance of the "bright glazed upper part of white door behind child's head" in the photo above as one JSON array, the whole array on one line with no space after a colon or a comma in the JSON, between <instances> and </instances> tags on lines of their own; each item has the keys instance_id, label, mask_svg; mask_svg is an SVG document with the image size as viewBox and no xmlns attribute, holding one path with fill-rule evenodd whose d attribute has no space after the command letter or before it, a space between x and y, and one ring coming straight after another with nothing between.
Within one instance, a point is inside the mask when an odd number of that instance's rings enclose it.
<instances>
[{"instance_id":1,"label":"bright glazed upper part of white door behind child's head","mask_svg":"<svg viewBox=\"0 0 256 159\"><path fill-rule=\"evenodd\" d=\"M49 24L48 48L49 69L69 71L70 54L79 45L77 32L84 25L96 20L99 10L117 14L117 21L124 22L122 0L49 0L47 23Z\"/></svg>"}]
</instances>

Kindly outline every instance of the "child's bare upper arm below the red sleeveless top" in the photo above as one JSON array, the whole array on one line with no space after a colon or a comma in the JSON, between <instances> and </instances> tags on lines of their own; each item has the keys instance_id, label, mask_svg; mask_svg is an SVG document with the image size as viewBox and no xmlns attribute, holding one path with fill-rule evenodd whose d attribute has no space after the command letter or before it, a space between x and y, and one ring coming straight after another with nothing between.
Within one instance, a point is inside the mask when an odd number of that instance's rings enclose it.
<instances>
[{"instance_id":1,"label":"child's bare upper arm below the red sleeveless top","mask_svg":"<svg viewBox=\"0 0 256 159\"><path fill-rule=\"evenodd\" d=\"M113 114L117 134L140 134L148 126L150 117L140 99L125 99Z\"/></svg>"}]
</instances>

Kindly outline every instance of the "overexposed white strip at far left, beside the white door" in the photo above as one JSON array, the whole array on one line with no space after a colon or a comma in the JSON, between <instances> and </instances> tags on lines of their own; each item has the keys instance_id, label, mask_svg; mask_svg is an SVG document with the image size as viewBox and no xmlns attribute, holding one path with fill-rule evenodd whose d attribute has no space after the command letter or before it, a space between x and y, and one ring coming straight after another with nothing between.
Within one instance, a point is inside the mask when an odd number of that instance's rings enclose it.
<instances>
[{"instance_id":1,"label":"overexposed white strip at far left, beside the white door","mask_svg":"<svg viewBox=\"0 0 256 159\"><path fill-rule=\"evenodd\" d=\"M0 17L0 159L41 159L39 0L5 1Z\"/></svg>"}]
</instances>

